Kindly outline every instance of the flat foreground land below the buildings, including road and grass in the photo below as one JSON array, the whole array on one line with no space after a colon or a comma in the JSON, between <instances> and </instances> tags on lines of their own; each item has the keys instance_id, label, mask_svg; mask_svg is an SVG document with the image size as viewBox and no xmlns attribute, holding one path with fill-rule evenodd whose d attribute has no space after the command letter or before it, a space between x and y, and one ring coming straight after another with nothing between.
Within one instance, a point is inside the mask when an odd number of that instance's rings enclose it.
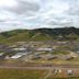
<instances>
[{"instance_id":1,"label":"flat foreground land below the buildings, including road and grass","mask_svg":"<svg viewBox=\"0 0 79 79\"><path fill-rule=\"evenodd\" d=\"M79 79L79 65L4 61L0 63L0 79Z\"/></svg>"}]
</instances>

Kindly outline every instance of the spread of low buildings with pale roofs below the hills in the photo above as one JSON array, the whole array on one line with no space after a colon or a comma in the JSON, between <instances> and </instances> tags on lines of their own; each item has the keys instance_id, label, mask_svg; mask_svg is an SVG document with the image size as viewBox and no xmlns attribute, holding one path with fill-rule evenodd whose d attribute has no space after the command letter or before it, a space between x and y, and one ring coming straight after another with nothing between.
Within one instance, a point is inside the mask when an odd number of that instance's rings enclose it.
<instances>
[{"instance_id":1,"label":"spread of low buildings with pale roofs below the hills","mask_svg":"<svg viewBox=\"0 0 79 79\"><path fill-rule=\"evenodd\" d=\"M74 44L74 42L72 42ZM18 42L12 45L0 44L0 58L7 59L74 59L78 57L79 48L78 44L74 44L75 48L70 48L70 42ZM68 46L68 47L67 47ZM77 46L77 47L76 47ZM61 48L60 48L61 47ZM63 48L64 47L64 48ZM66 48L65 48L66 47ZM69 49L70 48L70 49ZM55 55L55 50L65 50L69 54L66 55ZM72 52L74 50L74 52Z\"/></svg>"}]
</instances>

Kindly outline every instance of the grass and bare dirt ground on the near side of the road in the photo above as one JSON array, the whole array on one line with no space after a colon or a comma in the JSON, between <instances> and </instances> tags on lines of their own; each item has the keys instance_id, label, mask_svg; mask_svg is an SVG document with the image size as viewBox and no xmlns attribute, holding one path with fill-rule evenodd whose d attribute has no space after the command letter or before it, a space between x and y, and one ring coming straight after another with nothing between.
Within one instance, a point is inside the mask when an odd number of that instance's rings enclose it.
<instances>
[{"instance_id":1,"label":"grass and bare dirt ground on the near side of the road","mask_svg":"<svg viewBox=\"0 0 79 79\"><path fill-rule=\"evenodd\" d=\"M71 75L67 74L68 69L60 70L60 72L55 72L54 68L48 70L0 68L0 79L79 79L79 69L72 69Z\"/></svg>"}]
</instances>

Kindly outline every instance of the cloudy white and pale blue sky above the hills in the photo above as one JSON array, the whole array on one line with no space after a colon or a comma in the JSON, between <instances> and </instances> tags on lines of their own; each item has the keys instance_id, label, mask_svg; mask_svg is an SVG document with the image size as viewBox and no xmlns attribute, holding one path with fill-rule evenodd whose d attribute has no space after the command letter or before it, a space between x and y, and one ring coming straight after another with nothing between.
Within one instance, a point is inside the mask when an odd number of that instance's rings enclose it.
<instances>
[{"instance_id":1,"label":"cloudy white and pale blue sky above the hills","mask_svg":"<svg viewBox=\"0 0 79 79\"><path fill-rule=\"evenodd\" d=\"M79 0L0 0L0 31L79 27Z\"/></svg>"}]
</instances>

